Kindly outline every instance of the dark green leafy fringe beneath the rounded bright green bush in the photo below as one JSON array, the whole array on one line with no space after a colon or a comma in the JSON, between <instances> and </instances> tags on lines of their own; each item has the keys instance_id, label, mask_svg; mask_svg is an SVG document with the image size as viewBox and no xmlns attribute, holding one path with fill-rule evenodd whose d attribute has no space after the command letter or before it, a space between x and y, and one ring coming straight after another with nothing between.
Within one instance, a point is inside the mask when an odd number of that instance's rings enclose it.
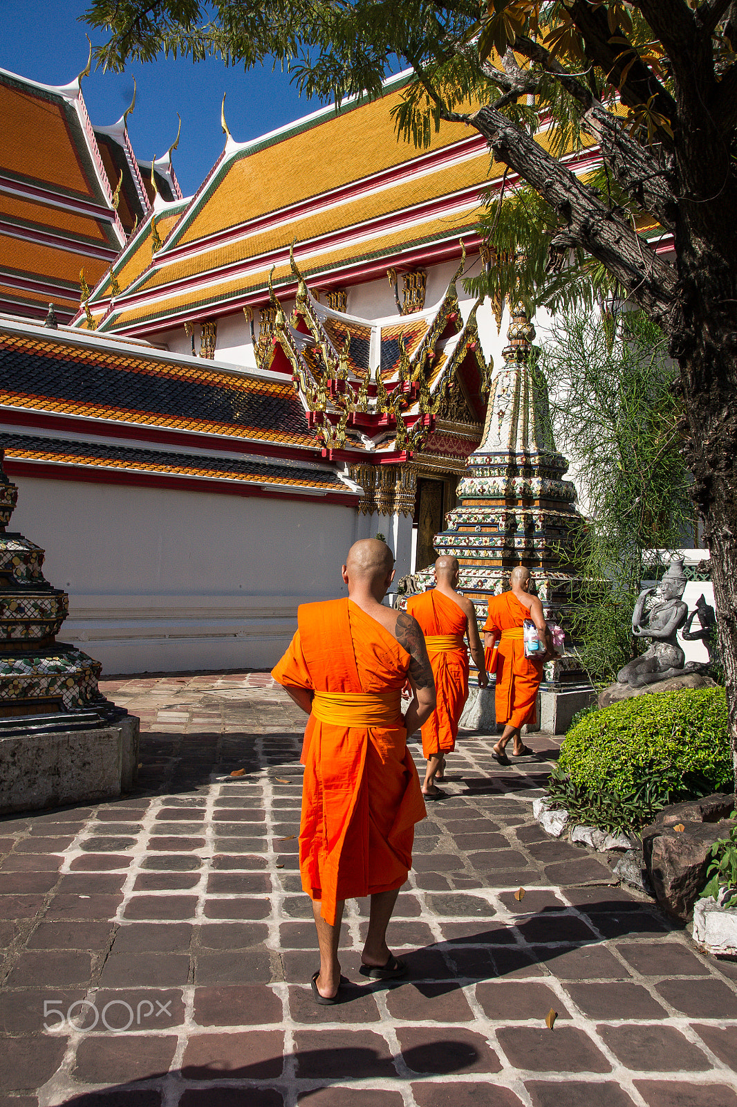
<instances>
[{"instance_id":1,"label":"dark green leafy fringe beneath the rounded bright green bush","mask_svg":"<svg viewBox=\"0 0 737 1107\"><path fill-rule=\"evenodd\" d=\"M662 776L651 775L637 788L619 793L598 788L591 790L574 784L560 766L556 766L547 784L553 807L564 807L577 823L594 826L610 834L637 831L652 823L669 803L669 792Z\"/></svg>"}]
</instances>

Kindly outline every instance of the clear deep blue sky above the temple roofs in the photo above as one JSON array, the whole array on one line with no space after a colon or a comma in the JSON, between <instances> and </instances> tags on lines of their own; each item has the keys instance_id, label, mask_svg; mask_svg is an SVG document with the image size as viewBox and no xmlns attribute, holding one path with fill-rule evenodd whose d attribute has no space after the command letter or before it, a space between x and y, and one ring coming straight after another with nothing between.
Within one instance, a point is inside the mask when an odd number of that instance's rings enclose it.
<instances>
[{"instance_id":1,"label":"clear deep blue sky above the temple roofs","mask_svg":"<svg viewBox=\"0 0 737 1107\"><path fill-rule=\"evenodd\" d=\"M72 81L87 61L85 32L93 45L103 41L79 22L86 7L86 0L0 0L0 68L44 84ZM279 70L245 73L226 69L216 59L197 65L187 59L162 59L149 65L131 64L122 74L93 70L82 91L94 124L107 126L121 117L131 102L134 76L138 93L135 112L128 116L133 148L146 161L164 154L176 137L179 112L181 138L174 167L185 196L199 187L225 145L224 92L226 120L237 142L320 107L318 101L300 99ZM284 166L284 172L290 168Z\"/></svg>"}]
</instances>

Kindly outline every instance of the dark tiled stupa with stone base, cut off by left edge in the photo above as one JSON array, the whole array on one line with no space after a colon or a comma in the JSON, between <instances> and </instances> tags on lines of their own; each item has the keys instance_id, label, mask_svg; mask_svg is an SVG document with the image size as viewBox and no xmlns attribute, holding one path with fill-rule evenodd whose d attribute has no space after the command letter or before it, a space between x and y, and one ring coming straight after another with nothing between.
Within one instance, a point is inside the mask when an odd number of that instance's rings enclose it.
<instances>
[{"instance_id":1,"label":"dark tiled stupa with stone base, cut off by left edge","mask_svg":"<svg viewBox=\"0 0 737 1107\"><path fill-rule=\"evenodd\" d=\"M0 813L118 795L137 765L138 721L102 695L101 664L56 642L69 597L43 550L7 530L18 487L0 449Z\"/></svg>"}]
</instances>

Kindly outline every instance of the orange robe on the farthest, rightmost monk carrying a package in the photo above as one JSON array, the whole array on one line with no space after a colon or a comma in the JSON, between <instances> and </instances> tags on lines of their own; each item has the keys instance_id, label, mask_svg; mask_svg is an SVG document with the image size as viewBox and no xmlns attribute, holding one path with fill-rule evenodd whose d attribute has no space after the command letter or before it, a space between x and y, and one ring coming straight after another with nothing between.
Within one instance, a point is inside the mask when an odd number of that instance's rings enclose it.
<instances>
[{"instance_id":1,"label":"orange robe on the farthest, rightmost monk carrying a package","mask_svg":"<svg viewBox=\"0 0 737 1107\"><path fill-rule=\"evenodd\" d=\"M504 631L521 628L529 618L530 609L523 607L513 592L502 592L489 600L484 630L497 637L497 723L523 726L525 723L538 721L537 701L542 664L525 656L525 642L521 638L502 638ZM486 651L486 668L488 672L494 668L491 650Z\"/></svg>"}]
</instances>

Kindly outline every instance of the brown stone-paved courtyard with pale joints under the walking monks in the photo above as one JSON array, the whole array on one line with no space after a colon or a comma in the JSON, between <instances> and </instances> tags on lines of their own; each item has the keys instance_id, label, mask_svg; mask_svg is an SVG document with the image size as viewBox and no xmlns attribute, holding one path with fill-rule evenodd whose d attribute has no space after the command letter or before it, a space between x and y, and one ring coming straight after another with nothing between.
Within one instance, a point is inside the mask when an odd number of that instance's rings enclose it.
<instances>
[{"instance_id":1,"label":"brown stone-paved courtyard with pale joints under the walking monks","mask_svg":"<svg viewBox=\"0 0 737 1107\"><path fill-rule=\"evenodd\" d=\"M409 979L357 973L349 903L318 1007L303 716L264 673L101 686L135 793L0 820L0 1107L737 1107L737 963L539 829L559 739L463 739L390 930Z\"/></svg>"}]
</instances>

